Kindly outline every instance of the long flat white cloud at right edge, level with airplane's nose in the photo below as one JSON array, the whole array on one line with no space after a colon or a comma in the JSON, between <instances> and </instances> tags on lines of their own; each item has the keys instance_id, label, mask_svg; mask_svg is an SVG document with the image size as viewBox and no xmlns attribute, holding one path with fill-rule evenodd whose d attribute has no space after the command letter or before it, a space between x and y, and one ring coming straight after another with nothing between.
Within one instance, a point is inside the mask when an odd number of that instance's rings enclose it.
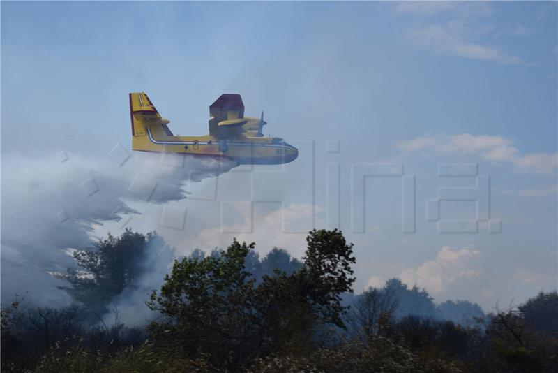
<instances>
[{"instance_id":1,"label":"long flat white cloud at right edge, level with airplane's nose","mask_svg":"<svg viewBox=\"0 0 558 373\"><path fill-rule=\"evenodd\" d=\"M516 170L524 173L552 175L558 167L558 153L521 154L513 145L513 140L503 136L479 135L469 133L460 135L425 135L398 142L402 152L434 150L442 154L464 154L479 156L494 163L510 163Z\"/></svg>"}]
</instances>

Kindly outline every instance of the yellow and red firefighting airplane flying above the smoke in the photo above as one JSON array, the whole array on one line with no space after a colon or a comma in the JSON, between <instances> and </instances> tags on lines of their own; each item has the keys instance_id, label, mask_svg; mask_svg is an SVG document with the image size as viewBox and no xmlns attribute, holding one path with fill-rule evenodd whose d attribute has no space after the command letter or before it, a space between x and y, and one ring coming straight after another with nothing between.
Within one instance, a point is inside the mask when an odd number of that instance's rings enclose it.
<instances>
[{"instance_id":1,"label":"yellow and red firefighting airplane flying above the smoke","mask_svg":"<svg viewBox=\"0 0 558 373\"><path fill-rule=\"evenodd\" d=\"M132 149L228 157L239 164L282 164L299 151L282 138L264 137L262 117L244 117L239 94L222 94L209 106L209 135L174 136L144 92L130 93Z\"/></svg>"}]
</instances>

